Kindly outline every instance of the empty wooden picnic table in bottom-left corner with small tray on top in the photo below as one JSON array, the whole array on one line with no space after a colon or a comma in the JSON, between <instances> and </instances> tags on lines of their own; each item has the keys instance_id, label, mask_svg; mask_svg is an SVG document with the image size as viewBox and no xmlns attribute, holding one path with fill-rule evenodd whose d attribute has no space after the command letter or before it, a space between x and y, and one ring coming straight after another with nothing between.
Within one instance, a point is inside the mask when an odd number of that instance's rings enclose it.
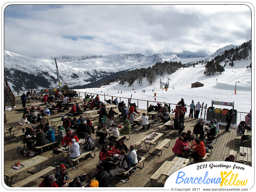
<instances>
[{"instance_id":1,"label":"empty wooden picnic table in bottom-left corner with small tray on top","mask_svg":"<svg viewBox=\"0 0 256 192\"><path fill-rule=\"evenodd\" d=\"M6 176L6 180L7 180L7 185L11 186L11 184L13 182L15 182L15 180L18 178L18 175L22 172L28 172L29 171L27 169L33 167L33 166L37 166L37 172L39 172L41 170L41 167L43 165L44 162L46 162L48 160L48 158L41 156L41 155L37 155L33 158L24 160L22 162L20 162L20 164L24 165L24 167L19 168L19 169L14 169L12 167L4 167L4 175ZM13 164L15 164L15 162L13 162ZM38 168L38 165L41 164L40 168ZM30 172L31 173L31 172ZM17 175L17 177L13 180L13 177ZM11 180L9 181L9 178L11 178Z\"/></svg>"}]
</instances>

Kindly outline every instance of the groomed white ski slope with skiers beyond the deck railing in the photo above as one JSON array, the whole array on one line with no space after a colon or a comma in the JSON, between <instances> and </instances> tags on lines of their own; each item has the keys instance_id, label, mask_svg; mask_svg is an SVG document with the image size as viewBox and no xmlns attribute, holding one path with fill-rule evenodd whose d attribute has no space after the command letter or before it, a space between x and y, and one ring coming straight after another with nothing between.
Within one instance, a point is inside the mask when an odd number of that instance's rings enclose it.
<instances>
[{"instance_id":1,"label":"groomed white ski slope with skiers beyond the deck railing","mask_svg":"<svg viewBox=\"0 0 256 192\"><path fill-rule=\"evenodd\" d=\"M249 110L252 109L252 72L251 68L246 67L250 65L250 63L251 60L237 61L234 62L234 67L227 65L224 73L211 76L205 76L203 74L205 68L198 64L195 67L181 68L171 75L165 74L161 77L158 76L152 85L150 85L145 78L142 81L142 85L135 82L133 87L119 85L119 82L113 82L101 88L76 91L87 91L95 94L105 93L106 95L127 98L130 98L132 94L133 99L149 101L155 101L156 99L158 102L168 103L178 103L178 101L183 98L187 105L190 105L191 101L194 100L195 104L200 101L200 103L207 103L208 107L211 106L212 100L234 102L236 110L249 112ZM162 82L167 82L167 78L169 78L169 89L167 91L160 89L160 78ZM191 88L191 83L197 81L203 83L204 86ZM235 94L235 84L238 81L237 94ZM155 89L156 97L154 97L154 92L152 92L153 89ZM145 90L145 92L142 92L142 90ZM120 93L121 91L122 94ZM134 91L136 91L136 93ZM221 105L214 105L214 107L221 109L231 108ZM173 106L171 108L173 109ZM187 108L189 111L189 107ZM244 119L245 115L246 114L241 114L241 119Z\"/></svg>"}]
</instances>

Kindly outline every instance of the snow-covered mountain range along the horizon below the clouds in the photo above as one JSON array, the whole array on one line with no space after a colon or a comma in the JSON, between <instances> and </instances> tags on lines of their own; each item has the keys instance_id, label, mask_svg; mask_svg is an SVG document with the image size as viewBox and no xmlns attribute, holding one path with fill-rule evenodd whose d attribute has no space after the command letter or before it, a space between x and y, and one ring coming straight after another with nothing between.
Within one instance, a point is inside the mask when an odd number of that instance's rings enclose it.
<instances>
[{"instance_id":1,"label":"snow-covered mountain range along the horizon below the clouds","mask_svg":"<svg viewBox=\"0 0 256 192\"><path fill-rule=\"evenodd\" d=\"M225 46L215 55L236 47ZM4 74L13 90L56 88L58 86L55 58L44 56L31 58L23 55L4 52ZM186 55L187 54L187 55ZM200 57L201 56L201 57ZM119 54L119 55L83 55L56 57L61 84L69 87L95 82L108 75L124 70L147 68L164 61L181 61L182 64L213 57L202 53L183 52L182 54Z\"/></svg>"}]
</instances>

